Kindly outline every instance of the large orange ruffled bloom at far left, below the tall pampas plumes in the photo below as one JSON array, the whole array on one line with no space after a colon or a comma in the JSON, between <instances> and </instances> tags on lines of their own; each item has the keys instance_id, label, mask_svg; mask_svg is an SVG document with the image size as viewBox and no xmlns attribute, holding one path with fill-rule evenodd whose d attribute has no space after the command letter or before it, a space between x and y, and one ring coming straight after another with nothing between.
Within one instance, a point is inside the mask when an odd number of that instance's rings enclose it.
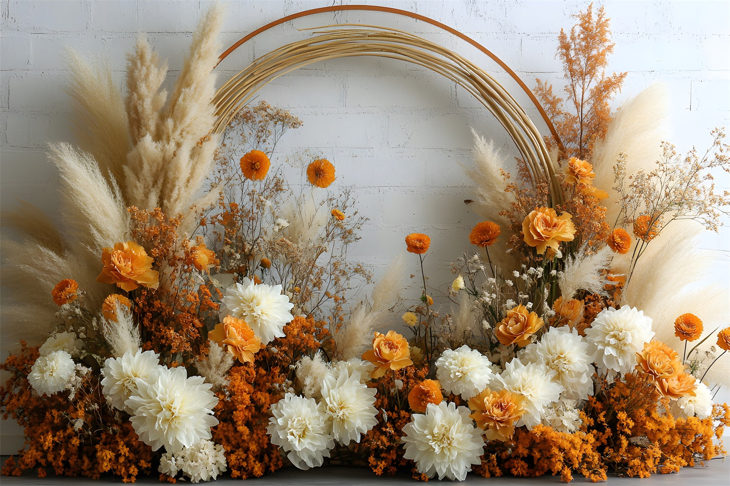
<instances>
[{"instance_id":1,"label":"large orange ruffled bloom at far left, below the tall pampas plumes","mask_svg":"<svg viewBox=\"0 0 730 486\"><path fill-rule=\"evenodd\" d=\"M124 291L133 291L137 287L155 288L158 284L159 273L152 270L153 258L147 256L145 248L128 241L115 243L114 248L104 248L101 254L104 268L96 277L97 282L116 283Z\"/></svg>"}]
</instances>

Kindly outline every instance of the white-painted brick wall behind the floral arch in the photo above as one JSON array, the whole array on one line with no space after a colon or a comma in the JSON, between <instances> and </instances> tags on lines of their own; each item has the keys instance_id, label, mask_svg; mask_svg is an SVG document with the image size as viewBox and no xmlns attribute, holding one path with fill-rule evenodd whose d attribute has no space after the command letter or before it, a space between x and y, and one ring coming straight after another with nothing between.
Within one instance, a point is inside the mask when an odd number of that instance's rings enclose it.
<instances>
[{"instance_id":1,"label":"white-painted brick wall behind the floral arch","mask_svg":"<svg viewBox=\"0 0 730 486\"><path fill-rule=\"evenodd\" d=\"M336 0L335 4L363 3ZM453 26L492 50L532 86L534 78L562 85L556 35L588 1L364 1L418 12ZM71 140L64 47L110 60L121 79L124 54L139 31L180 69L191 33L210 1L2 0L0 37L0 203L31 200L53 213L57 176L45 159L49 141ZM223 44L259 26L332 1L229 1ZM596 2L598 5L599 2ZM682 150L707 146L709 130L730 125L730 3L726 1L604 1L616 43L610 68L629 71L618 101L664 80L672 94L669 139ZM493 63L450 34L410 18L374 12L340 12L297 20L296 27L336 22L373 23L420 33L482 66ZM277 28L235 52L220 66L225 77L272 47L301 39L293 27ZM499 79L504 75L496 73ZM508 81L508 80L507 80ZM513 88L510 92L515 92ZM516 93L516 92L515 92ZM429 261L447 263L461 251L456 240L474 222L458 161L469 157L469 127L504 145L510 141L491 116L463 90L415 66L391 60L339 59L277 79L261 98L290 107L304 128L286 136L281 154L318 149L340 181L357 184L361 212L371 218L366 242L352 255L377 265L401 251L404 233L427 230L434 238ZM520 98L521 99L521 98ZM537 112L529 109L542 127ZM729 187L728 179L721 179ZM454 235L459 235L454 238ZM727 279L730 233L708 238L724 251ZM442 265L439 265L442 267ZM434 272L436 270L434 269ZM432 285L444 281L443 269ZM6 347L7 345L4 345ZM3 424L3 434L9 428ZM5 439L4 446L15 447ZM0 451L7 453L7 450Z\"/></svg>"}]
</instances>

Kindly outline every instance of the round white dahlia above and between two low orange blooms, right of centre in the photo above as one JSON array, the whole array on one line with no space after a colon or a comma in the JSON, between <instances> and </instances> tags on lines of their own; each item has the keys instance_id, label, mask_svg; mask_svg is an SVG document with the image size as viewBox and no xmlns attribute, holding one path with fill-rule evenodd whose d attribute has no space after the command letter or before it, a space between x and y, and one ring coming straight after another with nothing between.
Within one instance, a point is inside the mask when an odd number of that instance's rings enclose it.
<instances>
[{"instance_id":1,"label":"round white dahlia above and between two low orange blooms, right of centre","mask_svg":"<svg viewBox=\"0 0 730 486\"><path fill-rule=\"evenodd\" d=\"M467 345L447 349L436 361L436 377L446 393L468 400L487 388L494 379L491 361Z\"/></svg>"}]
</instances>

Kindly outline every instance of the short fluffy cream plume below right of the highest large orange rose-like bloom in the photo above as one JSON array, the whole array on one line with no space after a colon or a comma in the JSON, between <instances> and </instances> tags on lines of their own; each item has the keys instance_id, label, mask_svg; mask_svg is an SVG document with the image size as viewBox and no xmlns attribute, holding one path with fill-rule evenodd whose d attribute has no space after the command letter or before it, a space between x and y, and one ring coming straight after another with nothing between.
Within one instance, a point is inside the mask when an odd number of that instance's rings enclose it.
<instances>
[{"instance_id":1,"label":"short fluffy cream plume below right of the highest large orange rose-like bloom","mask_svg":"<svg viewBox=\"0 0 730 486\"><path fill-rule=\"evenodd\" d=\"M604 286L611 281L601 275L601 270L611 262L612 251L604 246L596 253L588 254L587 246L582 246L575 256L566 256L565 267L558 275L558 286L565 299L572 299L579 290L587 290L591 294L607 295Z\"/></svg>"}]
</instances>

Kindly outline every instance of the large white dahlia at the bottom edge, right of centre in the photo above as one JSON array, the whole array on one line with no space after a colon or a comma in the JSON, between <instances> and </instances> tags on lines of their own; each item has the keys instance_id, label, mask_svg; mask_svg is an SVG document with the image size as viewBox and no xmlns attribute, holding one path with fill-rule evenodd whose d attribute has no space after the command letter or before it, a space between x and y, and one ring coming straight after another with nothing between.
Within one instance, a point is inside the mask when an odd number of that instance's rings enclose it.
<instances>
[{"instance_id":1,"label":"large white dahlia at the bottom edge, right of centre","mask_svg":"<svg viewBox=\"0 0 730 486\"><path fill-rule=\"evenodd\" d=\"M446 404L428 404L426 413L411 415L403 428L404 458L415 461L418 472L428 477L464 481L472 464L481 463L482 430L469 418L469 409Z\"/></svg>"}]
</instances>

